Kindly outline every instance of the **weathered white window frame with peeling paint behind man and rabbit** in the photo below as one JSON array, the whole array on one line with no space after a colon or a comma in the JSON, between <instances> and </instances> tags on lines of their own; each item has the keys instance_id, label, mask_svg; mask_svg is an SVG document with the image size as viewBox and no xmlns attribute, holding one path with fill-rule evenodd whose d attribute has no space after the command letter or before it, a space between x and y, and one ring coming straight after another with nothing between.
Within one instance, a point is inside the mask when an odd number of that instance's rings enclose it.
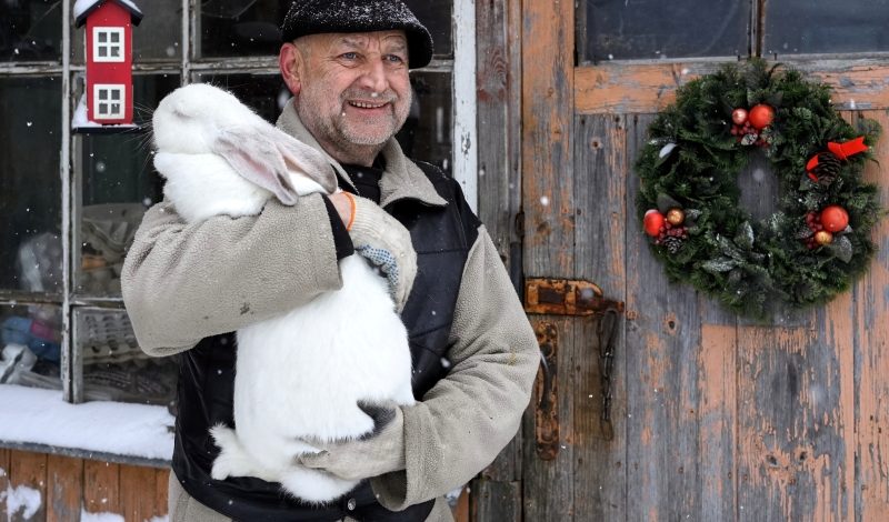
<instances>
[{"instance_id":1,"label":"weathered white window frame with peeling paint behind man and rabbit","mask_svg":"<svg viewBox=\"0 0 889 522\"><path fill-rule=\"evenodd\" d=\"M427 73L451 74L451 114L453 124L450 130L452 138L451 161L455 178L461 183L470 205L477 207L478 184L478 147L477 147L477 56L476 56L476 6L472 0L453 1L453 17L451 20L453 38L453 58L433 59L426 68L418 69ZM204 59L197 56L200 42L194 40L196 31L200 23L200 4L192 0L181 0L181 54L168 60L147 60L133 63L133 74L164 74L172 73L180 77L181 84L197 80L199 74L208 73L250 73L250 74L279 74L277 56L261 57L218 57ZM79 294L74 281L74 268L80 262L80 248L78 230L82 217L82 184L79 179L84 175L76 168L80 161L82 147L80 140L73 135L71 117L79 101L78 79L86 74L87 61L72 60L71 46L76 29L72 20L72 2L62 2L62 33L61 57L59 60L43 62L4 62L0 63L0 77L44 77L60 76L62 78L59 96L62 101L61 109L61 154L59 177L61 179L61 240L64 262L62 263L61 294L34 294L18 290L0 291L0 304L57 304L62 309L62 398L67 402L83 402L83 368L82 354L76 345L74 311L89 308L108 311L123 310L121 297L89 297ZM137 29L138 30L138 29ZM99 34L119 34L118 42L99 42ZM119 62L124 57L123 28L97 27L93 28L93 62ZM111 38L108 38L111 40ZM84 38L86 40L86 38ZM119 46L120 57L99 57L100 46L109 48ZM86 51L86 49L83 49ZM97 86L108 88L109 84ZM121 86L111 87L119 88ZM127 91L121 90L121 103L126 101ZM98 90L93 93L98 101ZM88 94L89 96L89 94ZM459 100L459 103L458 103ZM122 109L123 106L121 106ZM98 107L97 116L98 119ZM458 154L458 150L460 153ZM138 460L138 459L136 459Z\"/></svg>"}]
</instances>

